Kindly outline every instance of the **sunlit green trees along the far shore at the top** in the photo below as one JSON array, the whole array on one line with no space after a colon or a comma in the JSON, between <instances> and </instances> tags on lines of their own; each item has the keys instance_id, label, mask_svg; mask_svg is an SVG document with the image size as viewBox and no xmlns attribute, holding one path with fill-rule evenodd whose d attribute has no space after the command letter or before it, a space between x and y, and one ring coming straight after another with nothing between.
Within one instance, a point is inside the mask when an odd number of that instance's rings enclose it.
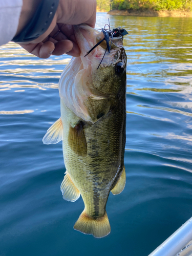
<instances>
[{"instance_id":1,"label":"sunlit green trees along the far shore at the top","mask_svg":"<svg viewBox=\"0 0 192 256\"><path fill-rule=\"evenodd\" d=\"M192 0L97 0L97 10L192 11Z\"/></svg>"}]
</instances>

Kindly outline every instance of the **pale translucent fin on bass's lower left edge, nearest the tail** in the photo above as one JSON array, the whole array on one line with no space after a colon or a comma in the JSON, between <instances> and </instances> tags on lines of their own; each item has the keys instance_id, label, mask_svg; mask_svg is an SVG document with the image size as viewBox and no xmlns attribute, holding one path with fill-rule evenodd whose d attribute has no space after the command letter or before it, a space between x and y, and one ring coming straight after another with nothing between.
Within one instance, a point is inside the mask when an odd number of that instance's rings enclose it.
<instances>
[{"instance_id":1,"label":"pale translucent fin on bass's lower left edge, nearest the tail","mask_svg":"<svg viewBox=\"0 0 192 256\"><path fill-rule=\"evenodd\" d=\"M80 192L74 185L67 171L61 183L60 190L62 192L62 198L67 201L75 202L80 197Z\"/></svg>"}]
</instances>

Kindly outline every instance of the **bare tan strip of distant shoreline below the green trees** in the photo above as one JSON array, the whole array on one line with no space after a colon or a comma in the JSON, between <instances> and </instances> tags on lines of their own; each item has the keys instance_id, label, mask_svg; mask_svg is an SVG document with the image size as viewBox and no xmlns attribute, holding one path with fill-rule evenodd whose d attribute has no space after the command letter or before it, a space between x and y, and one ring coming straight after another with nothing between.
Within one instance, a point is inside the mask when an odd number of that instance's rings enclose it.
<instances>
[{"instance_id":1,"label":"bare tan strip of distant shoreline below the green trees","mask_svg":"<svg viewBox=\"0 0 192 256\"><path fill-rule=\"evenodd\" d=\"M110 15L123 15L123 16L145 16L145 17L192 17L192 12L187 11L120 11L111 10L108 12Z\"/></svg>"}]
</instances>

